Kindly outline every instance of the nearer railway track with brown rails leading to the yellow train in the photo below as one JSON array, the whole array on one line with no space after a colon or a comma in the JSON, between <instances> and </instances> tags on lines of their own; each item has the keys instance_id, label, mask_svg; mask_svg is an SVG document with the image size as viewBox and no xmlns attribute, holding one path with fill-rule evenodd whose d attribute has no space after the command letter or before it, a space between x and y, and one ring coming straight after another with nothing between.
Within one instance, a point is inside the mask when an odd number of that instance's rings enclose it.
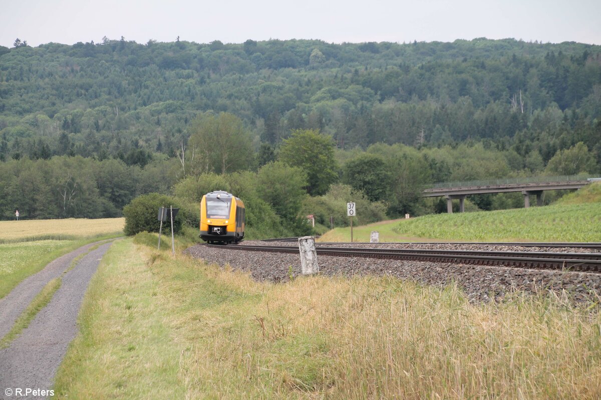
<instances>
[{"instance_id":1,"label":"nearer railway track with brown rails leading to the yellow train","mask_svg":"<svg viewBox=\"0 0 601 400\"><path fill-rule=\"evenodd\" d=\"M291 239L291 238L290 238ZM338 257L366 257L385 258L392 260L415 260L442 263L462 263L478 265L497 265L531 269L571 270L579 272L601 273L601 253L571 253L571 252L534 252L534 251L469 251L469 250L431 250L431 249L390 249L390 248L349 248L334 246L319 246L316 248L318 255L332 255ZM328 243L334 244L334 243ZM339 243L335 243L339 244ZM374 244L374 243L371 243ZM438 243L440 244L440 243ZM453 243L457 244L457 243ZM474 243L470 243L474 244ZM492 244L492 243L478 243ZM495 243L500 245L501 243ZM508 243L502 243L508 245ZM532 245L533 243L517 243ZM537 243L540 246L542 243ZM554 247L579 247L601 248L601 243L545 243ZM580 244L580 246L578 246ZM591 245L595 245L591 247ZM218 247L227 251L268 251L297 253L298 246L252 246L234 245Z\"/></svg>"}]
</instances>

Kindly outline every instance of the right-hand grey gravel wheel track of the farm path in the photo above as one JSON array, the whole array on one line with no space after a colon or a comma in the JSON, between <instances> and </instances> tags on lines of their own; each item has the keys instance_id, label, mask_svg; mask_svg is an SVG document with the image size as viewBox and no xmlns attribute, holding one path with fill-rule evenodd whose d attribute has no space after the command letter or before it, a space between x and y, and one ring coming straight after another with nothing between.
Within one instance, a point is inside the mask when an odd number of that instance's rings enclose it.
<instances>
[{"instance_id":1,"label":"right-hand grey gravel wheel track of the farm path","mask_svg":"<svg viewBox=\"0 0 601 400\"><path fill-rule=\"evenodd\" d=\"M58 273L47 272L48 276L60 275L69 267L73 258L87 251L90 246L84 246L58 258L55 260L56 264L55 261L50 263L48 267ZM36 315L29 327L14 339L10 347L0 350L0 399L44 398L31 395L14 396L14 389L52 388L54 375L67 351L67 345L78 332L76 321L88 282L110 246L111 243L105 243L89 252L79 260L75 268L65 273L61 287L50 303ZM48 280L50 279L52 278ZM8 300L8 296L4 300ZM11 304L3 301L0 306L5 308ZM13 390L12 395L8 396L6 390Z\"/></svg>"}]
</instances>

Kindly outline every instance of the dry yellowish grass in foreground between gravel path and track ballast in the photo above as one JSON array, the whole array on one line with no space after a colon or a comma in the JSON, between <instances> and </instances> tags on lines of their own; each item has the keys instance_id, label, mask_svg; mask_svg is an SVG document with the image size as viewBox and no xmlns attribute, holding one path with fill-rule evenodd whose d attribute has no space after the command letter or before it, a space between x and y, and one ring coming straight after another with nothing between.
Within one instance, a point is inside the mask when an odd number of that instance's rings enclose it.
<instances>
[{"instance_id":1,"label":"dry yellowish grass in foreground between gravel path and track ballast","mask_svg":"<svg viewBox=\"0 0 601 400\"><path fill-rule=\"evenodd\" d=\"M601 396L594 305L472 305L455 287L389 278L258 283L155 240L115 242L103 258L61 398Z\"/></svg>"}]
</instances>

